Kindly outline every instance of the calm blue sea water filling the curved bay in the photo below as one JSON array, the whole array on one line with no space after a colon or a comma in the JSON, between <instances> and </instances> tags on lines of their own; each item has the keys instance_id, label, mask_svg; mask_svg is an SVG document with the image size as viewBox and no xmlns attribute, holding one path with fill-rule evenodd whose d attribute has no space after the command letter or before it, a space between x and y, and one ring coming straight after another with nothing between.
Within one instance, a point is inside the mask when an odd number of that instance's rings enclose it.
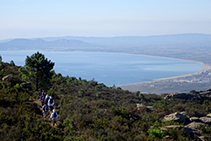
<instances>
[{"instance_id":1,"label":"calm blue sea water filling the curved bay","mask_svg":"<svg viewBox=\"0 0 211 141\"><path fill-rule=\"evenodd\" d=\"M0 51L3 62L14 61L24 66L27 56L37 51ZM160 78L201 71L203 66L192 61L135 54L107 52L39 51L55 63L54 70L63 76L81 77L107 86L141 83Z\"/></svg>"}]
</instances>

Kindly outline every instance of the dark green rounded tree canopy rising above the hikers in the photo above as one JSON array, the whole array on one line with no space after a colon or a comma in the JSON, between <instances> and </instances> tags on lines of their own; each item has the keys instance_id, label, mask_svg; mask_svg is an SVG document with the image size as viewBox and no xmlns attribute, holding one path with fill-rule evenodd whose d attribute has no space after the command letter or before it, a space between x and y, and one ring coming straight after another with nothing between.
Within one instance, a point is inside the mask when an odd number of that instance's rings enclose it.
<instances>
[{"instance_id":1,"label":"dark green rounded tree canopy rising above the hikers","mask_svg":"<svg viewBox=\"0 0 211 141\"><path fill-rule=\"evenodd\" d=\"M54 74L52 71L54 63L51 60L45 58L42 53L32 54L27 56L25 60L25 66L20 68L22 79L29 81L32 86L46 89L50 84L50 78Z\"/></svg>"}]
</instances>

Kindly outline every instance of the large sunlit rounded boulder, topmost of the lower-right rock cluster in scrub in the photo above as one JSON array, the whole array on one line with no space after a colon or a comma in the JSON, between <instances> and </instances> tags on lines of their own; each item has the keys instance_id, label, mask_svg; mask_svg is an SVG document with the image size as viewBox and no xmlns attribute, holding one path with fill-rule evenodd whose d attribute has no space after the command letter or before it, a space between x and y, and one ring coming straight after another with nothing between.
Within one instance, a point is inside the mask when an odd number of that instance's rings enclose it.
<instances>
[{"instance_id":1,"label":"large sunlit rounded boulder, topmost of the lower-right rock cluster in scrub","mask_svg":"<svg viewBox=\"0 0 211 141\"><path fill-rule=\"evenodd\" d=\"M186 122L187 120L189 120L185 114L185 112L176 112L170 115L166 115L162 122L167 122L167 121L177 121L177 122Z\"/></svg>"}]
</instances>

